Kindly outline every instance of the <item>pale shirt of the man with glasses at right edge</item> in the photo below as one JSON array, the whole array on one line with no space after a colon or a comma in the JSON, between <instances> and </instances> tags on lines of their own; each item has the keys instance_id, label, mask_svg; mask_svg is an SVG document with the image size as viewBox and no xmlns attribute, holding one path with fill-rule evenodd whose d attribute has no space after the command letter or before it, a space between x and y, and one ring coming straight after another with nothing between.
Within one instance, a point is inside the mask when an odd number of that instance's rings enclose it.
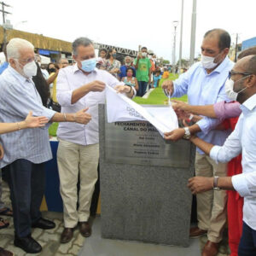
<instances>
[{"instance_id":1,"label":"pale shirt of the man with glasses at right edge","mask_svg":"<svg viewBox=\"0 0 256 256\"><path fill-rule=\"evenodd\" d=\"M244 197L243 221L256 230L256 94L241 105L236 129L222 147L214 146L213 160L227 162L242 154L242 173L232 177L234 189Z\"/></svg>"}]
</instances>

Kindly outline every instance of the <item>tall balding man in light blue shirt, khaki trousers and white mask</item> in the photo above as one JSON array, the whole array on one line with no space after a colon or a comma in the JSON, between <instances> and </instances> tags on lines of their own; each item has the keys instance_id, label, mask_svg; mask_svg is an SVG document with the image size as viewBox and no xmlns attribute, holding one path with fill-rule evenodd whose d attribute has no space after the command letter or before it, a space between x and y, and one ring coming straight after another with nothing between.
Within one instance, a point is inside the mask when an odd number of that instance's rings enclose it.
<instances>
[{"instance_id":1,"label":"tall balding man in light blue shirt, khaki trousers and white mask","mask_svg":"<svg viewBox=\"0 0 256 256\"><path fill-rule=\"evenodd\" d=\"M175 81L162 84L167 96L180 97L188 95L190 105L208 105L215 102L229 101L225 95L224 83L234 63L229 60L230 35L221 29L207 32L201 44L201 62L195 63L188 72ZM166 133L166 139L176 141L183 136L198 132L209 143L223 145L230 131L212 130L221 123L219 119L205 118L195 125L178 128ZM212 177L225 176L226 165L216 164L200 148L195 158L195 175ZM196 237L207 233L207 245L203 253L218 253L218 243L222 240L226 222L226 193L224 191L206 192L197 196L198 227L191 228L190 236ZM215 254L214 254L215 253Z\"/></svg>"}]
</instances>

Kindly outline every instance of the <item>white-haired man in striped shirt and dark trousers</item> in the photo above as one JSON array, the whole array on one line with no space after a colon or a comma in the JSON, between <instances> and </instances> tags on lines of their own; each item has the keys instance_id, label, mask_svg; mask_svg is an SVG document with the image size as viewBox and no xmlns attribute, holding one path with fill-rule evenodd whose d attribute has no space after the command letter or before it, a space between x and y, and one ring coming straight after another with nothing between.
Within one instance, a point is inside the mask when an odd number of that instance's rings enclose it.
<instances>
[{"instance_id":1,"label":"white-haired man in striped shirt and dark trousers","mask_svg":"<svg viewBox=\"0 0 256 256\"><path fill-rule=\"evenodd\" d=\"M0 143L5 149L0 168L9 183L14 211L15 246L26 253L39 253L42 247L31 236L32 228L53 229L55 224L42 218L39 210L44 195L44 162L52 158L48 127L22 130L20 121L29 111L54 122L87 124L90 114L55 113L44 108L32 82L37 73L34 47L24 39L13 38L7 45L9 67L0 76L0 122L16 123L14 133L3 134Z\"/></svg>"}]
</instances>

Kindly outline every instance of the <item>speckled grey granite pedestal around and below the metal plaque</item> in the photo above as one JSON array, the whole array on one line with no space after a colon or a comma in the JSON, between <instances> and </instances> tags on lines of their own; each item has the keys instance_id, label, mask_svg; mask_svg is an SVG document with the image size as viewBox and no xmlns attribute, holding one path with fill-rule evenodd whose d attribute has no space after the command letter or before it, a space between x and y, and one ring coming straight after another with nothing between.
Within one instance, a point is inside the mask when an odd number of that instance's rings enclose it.
<instances>
[{"instance_id":1,"label":"speckled grey granite pedestal around and below the metal plaque","mask_svg":"<svg viewBox=\"0 0 256 256\"><path fill-rule=\"evenodd\" d=\"M106 131L113 124L106 122L104 105L99 107L102 237L188 247L192 195L187 183L194 174L195 148L188 141L182 141L182 147L171 143L170 154L183 148L176 158L188 155L186 167L172 162L170 166L109 162ZM147 136L152 132L158 131L145 131ZM110 150L111 138L107 141Z\"/></svg>"}]
</instances>

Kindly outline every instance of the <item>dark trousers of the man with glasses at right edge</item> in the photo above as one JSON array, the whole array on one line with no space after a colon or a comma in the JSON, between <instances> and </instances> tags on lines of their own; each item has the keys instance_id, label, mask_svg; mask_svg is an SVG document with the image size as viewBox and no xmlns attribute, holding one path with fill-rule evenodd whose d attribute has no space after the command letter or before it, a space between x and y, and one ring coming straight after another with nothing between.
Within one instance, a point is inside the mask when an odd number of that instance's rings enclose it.
<instances>
[{"instance_id":1,"label":"dark trousers of the man with glasses at right edge","mask_svg":"<svg viewBox=\"0 0 256 256\"><path fill-rule=\"evenodd\" d=\"M245 222L242 225L242 235L238 247L239 256L256 256L256 230L251 229Z\"/></svg>"}]
</instances>

